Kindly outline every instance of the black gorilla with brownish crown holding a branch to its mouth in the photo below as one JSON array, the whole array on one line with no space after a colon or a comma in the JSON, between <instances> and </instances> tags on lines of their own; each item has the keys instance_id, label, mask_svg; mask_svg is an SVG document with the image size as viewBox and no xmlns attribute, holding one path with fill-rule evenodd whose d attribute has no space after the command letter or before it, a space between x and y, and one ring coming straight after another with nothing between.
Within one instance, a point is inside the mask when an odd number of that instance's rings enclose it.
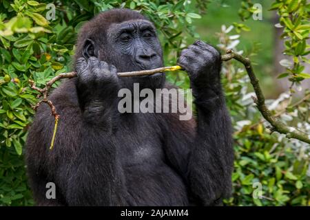
<instances>
[{"instance_id":1,"label":"black gorilla with brownish crown holding a branch to its mouth","mask_svg":"<svg viewBox=\"0 0 310 220\"><path fill-rule=\"evenodd\" d=\"M220 53L196 41L180 53L196 115L120 113L118 91L172 88L165 73L118 77L163 67L152 22L125 9L101 12L83 25L74 56L76 78L50 100L60 115L37 109L26 141L26 164L38 206L218 206L231 193L231 121L220 84ZM170 104L178 100L169 99ZM156 104L156 103L154 103ZM56 198L46 197L54 183Z\"/></svg>"}]
</instances>

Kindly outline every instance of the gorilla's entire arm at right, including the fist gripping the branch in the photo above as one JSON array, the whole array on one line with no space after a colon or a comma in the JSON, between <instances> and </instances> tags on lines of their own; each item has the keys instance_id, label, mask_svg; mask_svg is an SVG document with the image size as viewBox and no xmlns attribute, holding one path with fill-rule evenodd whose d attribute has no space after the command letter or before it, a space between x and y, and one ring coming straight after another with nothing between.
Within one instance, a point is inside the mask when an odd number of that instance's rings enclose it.
<instances>
[{"instance_id":1,"label":"gorilla's entire arm at right, including the fist gripping the branch","mask_svg":"<svg viewBox=\"0 0 310 220\"><path fill-rule=\"evenodd\" d=\"M234 160L231 122L220 85L220 54L211 45L196 41L183 50L178 63L189 74L198 118L193 140L188 132L183 135L191 123L176 122L179 127L169 131L174 134L167 140L167 155L177 168L187 159L185 179L192 195L203 205L216 205L231 192ZM183 162L175 163L176 157Z\"/></svg>"}]
</instances>

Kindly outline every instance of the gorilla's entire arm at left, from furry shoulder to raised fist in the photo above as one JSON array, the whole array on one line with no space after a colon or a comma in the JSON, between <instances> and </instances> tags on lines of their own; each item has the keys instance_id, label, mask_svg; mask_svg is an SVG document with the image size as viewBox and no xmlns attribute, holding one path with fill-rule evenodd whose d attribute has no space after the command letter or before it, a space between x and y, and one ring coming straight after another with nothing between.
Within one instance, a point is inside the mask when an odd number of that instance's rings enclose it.
<instances>
[{"instance_id":1,"label":"gorilla's entire arm at left, from furry shoulder to raised fist","mask_svg":"<svg viewBox=\"0 0 310 220\"><path fill-rule=\"evenodd\" d=\"M110 90L112 82L108 76L99 79L94 76L99 68L110 74L107 66L101 66L97 59L91 58L88 63L79 60L78 78L63 83L50 96L61 115L52 150L49 146L54 117L47 105L37 111L28 135L27 159L38 205L123 204L120 196L123 173L116 159L112 118L103 117L116 111L111 103L102 107L114 96ZM48 190L45 184L49 181L56 184L56 199L45 198Z\"/></svg>"}]
</instances>

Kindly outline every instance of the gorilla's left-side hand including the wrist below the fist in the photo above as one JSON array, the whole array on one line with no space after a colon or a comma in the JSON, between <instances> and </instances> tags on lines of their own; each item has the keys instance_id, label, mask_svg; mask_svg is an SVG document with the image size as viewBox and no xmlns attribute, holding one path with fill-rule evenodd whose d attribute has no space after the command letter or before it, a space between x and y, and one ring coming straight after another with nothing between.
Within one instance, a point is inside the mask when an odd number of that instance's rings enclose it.
<instances>
[{"instance_id":1,"label":"gorilla's left-side hand including the wrist below the fist","mask_svg":"<svg viewBox=\"0 0 310 220\"><path fill-rule=\"evenodd\" d=\"M76 61L77 91L85 119L110 128L117 107L119 80L116 68L98 58Z\"/></svg>"}]
</instances>

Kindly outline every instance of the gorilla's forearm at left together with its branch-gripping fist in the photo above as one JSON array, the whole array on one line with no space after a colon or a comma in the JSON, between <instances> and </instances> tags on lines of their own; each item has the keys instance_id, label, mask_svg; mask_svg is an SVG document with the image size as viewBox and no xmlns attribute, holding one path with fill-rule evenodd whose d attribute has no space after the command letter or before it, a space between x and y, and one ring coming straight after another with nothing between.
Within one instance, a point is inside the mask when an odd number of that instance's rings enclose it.
<instances>
[{"instance_id":1,"label":"gorilla's forearm at left together with its branch-gripping fist","mask_svg":"<svg viewBox=\"0 0 310 220\"><path fill-rule=\"evenodd\" d=\"M81 149L70 168L68 201L72 205L123 204L122 170L116 157L118 77L116 68L98 58L76 61L82 112Z\"/></svg>"}]
</instances>

